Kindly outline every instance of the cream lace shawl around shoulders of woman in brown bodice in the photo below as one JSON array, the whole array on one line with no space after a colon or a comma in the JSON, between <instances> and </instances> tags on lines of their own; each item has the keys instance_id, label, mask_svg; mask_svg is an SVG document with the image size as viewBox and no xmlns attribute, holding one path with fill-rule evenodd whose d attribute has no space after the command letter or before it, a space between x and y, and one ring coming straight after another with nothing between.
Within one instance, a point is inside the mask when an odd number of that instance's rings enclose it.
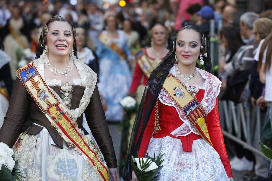
<instances>
[{"instance_id":1,"label":"cream lace shawl around shoulders of woman in brown bodice","mask_svg":"<svg viewBox=\"0 0 272 181\"><path fill-rule=\"evenodd\" d=\"M33 61L34 65L36 66L38 72L40 73L41 77L44 79L44 59L43 56L40 56L39 59L36 59ZM76 65L76 68L78 70L78 74L81 78L82 86L85 87L83 97L81 98L79 102L79 107L74 110L69 110L65 104L63 103L60 96L50 87L50 90L55 94L55 96L60 100L62 105L67 108L69 114L73 117L73 122L76 122L77 118L79 118L83 112L85 111L86 107L88 106L92 93L96 87L96 81L97 81L97 74L89 68L86 64L82 63L78 59L74 59L74 64Z\"/></svg>"}]
</instances>

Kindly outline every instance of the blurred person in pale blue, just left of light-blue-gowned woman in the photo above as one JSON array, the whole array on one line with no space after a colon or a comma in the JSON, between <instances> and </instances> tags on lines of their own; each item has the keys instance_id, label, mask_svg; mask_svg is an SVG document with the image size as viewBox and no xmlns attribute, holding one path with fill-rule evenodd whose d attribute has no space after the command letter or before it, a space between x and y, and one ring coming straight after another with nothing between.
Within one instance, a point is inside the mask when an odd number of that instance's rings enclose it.
<instances>
[{"instance_id":1,"label":"blurred person in pale blue, just left of light-blue-gowned woman","mask_svg":"<svg viewBox=\"0 0 272 181\"><path fill-rule=\"evenodd\" d=\"M90 4L87 9L87 14L90 20L89 36L92 39L93 46L98 45L98 37L103 29L103 14L97 9L95 4Z\"/></svg>"}]
</instances>

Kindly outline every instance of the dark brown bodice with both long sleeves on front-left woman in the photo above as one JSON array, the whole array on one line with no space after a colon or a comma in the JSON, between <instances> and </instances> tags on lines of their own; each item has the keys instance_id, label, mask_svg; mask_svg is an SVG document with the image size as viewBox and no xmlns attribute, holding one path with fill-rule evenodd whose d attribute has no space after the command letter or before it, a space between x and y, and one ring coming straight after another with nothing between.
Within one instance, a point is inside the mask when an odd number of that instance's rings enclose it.
<instances>
[{"instance_id":1,"label":"dark brown bodice with both long sleeves on front-left woman","mask_svg":"<svg viewBox=\"0 0 272 181\"><path fill-rule=\"evenodd\" d=\"M50 87L61 96L61 86ZM79 102L83 97L84 90L84 86L73 85L71 109L79 107ZM108 130L108 123L101 104L97 85L84 113L88 126L104 156L107 166L109 168L117 167L112 137ZM79 129L82 129L84 134L88 134L82 125L83 115L81 115L76 122ZM11 148L21 132L27 131L29 135L37 135L43 128L33 123L44 126L50 133L55 144L63 148L63 138L60 137L57 130L51 125L50 121L17 78L12 90L8 111L0 130L0 142L4 142Z\"/></svg>"}]
</instances>

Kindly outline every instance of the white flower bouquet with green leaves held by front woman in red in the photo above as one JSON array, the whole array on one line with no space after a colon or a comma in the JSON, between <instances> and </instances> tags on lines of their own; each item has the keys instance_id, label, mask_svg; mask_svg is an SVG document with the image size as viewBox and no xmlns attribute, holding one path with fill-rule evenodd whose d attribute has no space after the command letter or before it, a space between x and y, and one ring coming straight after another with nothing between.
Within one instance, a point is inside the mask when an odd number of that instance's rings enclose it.
<instances>
[{"instance_id":1,"label":"white flower bouquet with green leaves held by front woman in red","mask_svg":"<svg viewBox=\"0 0 272 181\"><path fill-rule=\"evenodd\" d=\"M134 158L131 156L131 166L139 181L153 180L162 169L161 163L164 161L161 158L164 154L159 154L157 159L154 157Z\"/></svg>"}]
</instances>

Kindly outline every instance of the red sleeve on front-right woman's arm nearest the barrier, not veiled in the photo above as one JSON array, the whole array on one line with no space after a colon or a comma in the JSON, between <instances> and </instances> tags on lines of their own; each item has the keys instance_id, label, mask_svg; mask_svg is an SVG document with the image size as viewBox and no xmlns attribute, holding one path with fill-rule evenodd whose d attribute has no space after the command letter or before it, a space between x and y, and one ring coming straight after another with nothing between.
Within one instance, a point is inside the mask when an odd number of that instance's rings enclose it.
<instances>
[{"instance_id":1,"label":"red sleeve on front-right woman's arm nearest the barrier, not veiled","mask_svg":"<svg viewBox=\"0 0 272 181\"><path fill-rule=\"evenodd\" d=\"M232 169L228 160L228 155L224 143L222 129L219 120L218 112L218 97L213 110L207 115L208 131L213 144L214 149L220 156L222 164L224 165L225 171L228 177L232 177Z\"/></svg>"}]
</instances>

